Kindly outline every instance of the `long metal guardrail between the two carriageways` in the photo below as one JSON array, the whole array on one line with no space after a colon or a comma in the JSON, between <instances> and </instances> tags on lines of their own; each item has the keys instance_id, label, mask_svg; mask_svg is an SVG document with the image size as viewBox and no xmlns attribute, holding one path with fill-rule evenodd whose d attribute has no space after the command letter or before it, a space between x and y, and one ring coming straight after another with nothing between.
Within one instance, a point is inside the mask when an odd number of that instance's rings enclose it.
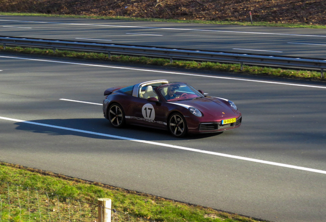
<instances>
[{"instance_id":1,"label":"long metal guardrail between the two carriageways","mask_svg":"<svg viewBox=\"0 0 326 222\"><path fill-rule=\"evenodd\" d=\"M305 69L320 69L321 78L324 78L323 69L326 68L326 60L321 59L318 60L294 57L275 57L272 55L238 54L219 51L173 49L165 47L27 39L10 36L0 36L0 44L3 44L4 48L6 45L52 48L54 52L56 49L105 52L109 54L109 57L111 53L147 55L152 57L170 58L171 63L173 59L176 58L200 61L222 61L228 63L240 63L241 70L243 69L243 64L245 63L286 67L289 66Z\"/></svg>"}]
</instances>

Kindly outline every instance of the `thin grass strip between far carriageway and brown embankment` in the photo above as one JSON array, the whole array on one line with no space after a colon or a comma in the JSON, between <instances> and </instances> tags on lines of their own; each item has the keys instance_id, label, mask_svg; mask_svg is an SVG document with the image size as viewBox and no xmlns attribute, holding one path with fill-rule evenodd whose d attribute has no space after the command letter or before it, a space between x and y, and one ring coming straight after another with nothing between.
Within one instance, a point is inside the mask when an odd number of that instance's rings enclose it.
<instances>
[{"instance_id":1,"label":"thin grass strip between far carriageway and brown embankment","mask_svg":"<svg viewBox=\"0 0 326 222\"><path fill-rule=\"evenodd\" d=\"M42 17L63 17L63 18L91 18L101 20L127 20L127 21L144 21L144 22L171 22L171 23L196 23L196 24L212 24L212 25L242 25L242 26L267 26L267 27L284 27L284 28L318 28L325 29L324 25L310 24L290 24L283 22L235 22L235 21L205 21L205 20L173 20L162 18L137 18L125 16L97 16L97 15L58 15L58 14L41 14L41 13L22 13L22 12L0 12L0 15L16 15L16 16L42 16Z\"/></svg>"}]
</instances>

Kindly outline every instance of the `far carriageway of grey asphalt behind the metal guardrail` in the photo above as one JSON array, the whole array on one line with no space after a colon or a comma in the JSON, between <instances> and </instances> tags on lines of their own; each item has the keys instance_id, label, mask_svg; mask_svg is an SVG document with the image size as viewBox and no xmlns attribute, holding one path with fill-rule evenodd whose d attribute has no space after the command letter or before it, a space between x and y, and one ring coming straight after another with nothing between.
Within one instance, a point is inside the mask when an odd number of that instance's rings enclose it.
<instances>
[{"instance_id":1,"label":"far carriageway of grey asphalt behind the metal guardrail","mask_svg":"<svg viewBox=\"0 0 326 222\"><path fill-rule=\"evenodd\" d=\"M326 59L323 29L0 15L1 35Z\"/></svg>"}]
</instances>

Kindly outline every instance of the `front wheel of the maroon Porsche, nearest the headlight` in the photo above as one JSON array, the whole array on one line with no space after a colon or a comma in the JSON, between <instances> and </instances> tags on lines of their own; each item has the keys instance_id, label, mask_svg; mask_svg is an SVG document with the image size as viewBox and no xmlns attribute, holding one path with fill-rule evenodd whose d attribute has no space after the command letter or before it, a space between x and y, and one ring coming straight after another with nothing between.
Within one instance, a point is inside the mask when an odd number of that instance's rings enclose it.
<instances>
[{"instance_id":1,"label":"front wheel of the maroon Porsche, nearest the headlight","mask_svg":"<svg viewBox=\"0 0 326 222\"><path fill-rule=\"evenodd\" d=\"M168 127L174 137L184 137L187 134L187 123L184 116L179 113L173 113L169 117Z\"/></svg>"}]
</instances>

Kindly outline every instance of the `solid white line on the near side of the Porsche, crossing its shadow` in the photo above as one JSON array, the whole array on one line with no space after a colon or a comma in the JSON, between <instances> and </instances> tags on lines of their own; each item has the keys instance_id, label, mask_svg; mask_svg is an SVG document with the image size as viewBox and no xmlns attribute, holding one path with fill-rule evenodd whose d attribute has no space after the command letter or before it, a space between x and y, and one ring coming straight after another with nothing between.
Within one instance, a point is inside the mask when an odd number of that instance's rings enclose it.
<instances>
[{"instance_id":1,"label":"solid white line on the near side of the Porsche, crossing its shadow","mask_svg":"<svg viewBox=\"0 0 326 222\"><path fill-rule=\"evenodd\" d=\"M296 170L326 174L326 171L323 171L323 170L316 170L316 169L312 169L312 168L298 167L296 165L289 165L289 164L284 164L284 163L277 163L277 162L253 159L253 158L248 158L248 157L234 156L234 155L223 154L223 153L216 153L216 152L212 152L212 151L198 150L198 149L193 149L193 148L184 147L184 146L152 142L152 141L134 139L134 138L129 138L129 137L121 137L121 136L115 136L115 135L110 135L110 134L96 133L96 132L91 132L91 131L77 130L75 128L49 125L49 124L37 123L37 122L31 122L31 121L25 121L25 120L18 120L18 119L12 119L12 118L7 118L7 117L0 117L0 119L13 121L13 122L22 122L22 123L27 123L27 124L39 125L39 126L46 126L46 127L57 128L60 130L67 130L67 131L73 131L73 132L78 132L78 133L85 133L85 134L110 137L110 138L121 139L121 140L128 140L128 141L147 143L147 144L158 145L158 146L165 146L165 147L170 147L170 148L178 149L178 150L186 150L186 151L191 151L191 152L196 152L196 153L204 153L204 154L210 154L210 155L215 155L215 156L228 157L228 158L233 158L233 159L246 160L246 161L269 164L269 165L276 165L278 167L291 168L291 169L296 169Z\"/></svg>"}]
</instances>

